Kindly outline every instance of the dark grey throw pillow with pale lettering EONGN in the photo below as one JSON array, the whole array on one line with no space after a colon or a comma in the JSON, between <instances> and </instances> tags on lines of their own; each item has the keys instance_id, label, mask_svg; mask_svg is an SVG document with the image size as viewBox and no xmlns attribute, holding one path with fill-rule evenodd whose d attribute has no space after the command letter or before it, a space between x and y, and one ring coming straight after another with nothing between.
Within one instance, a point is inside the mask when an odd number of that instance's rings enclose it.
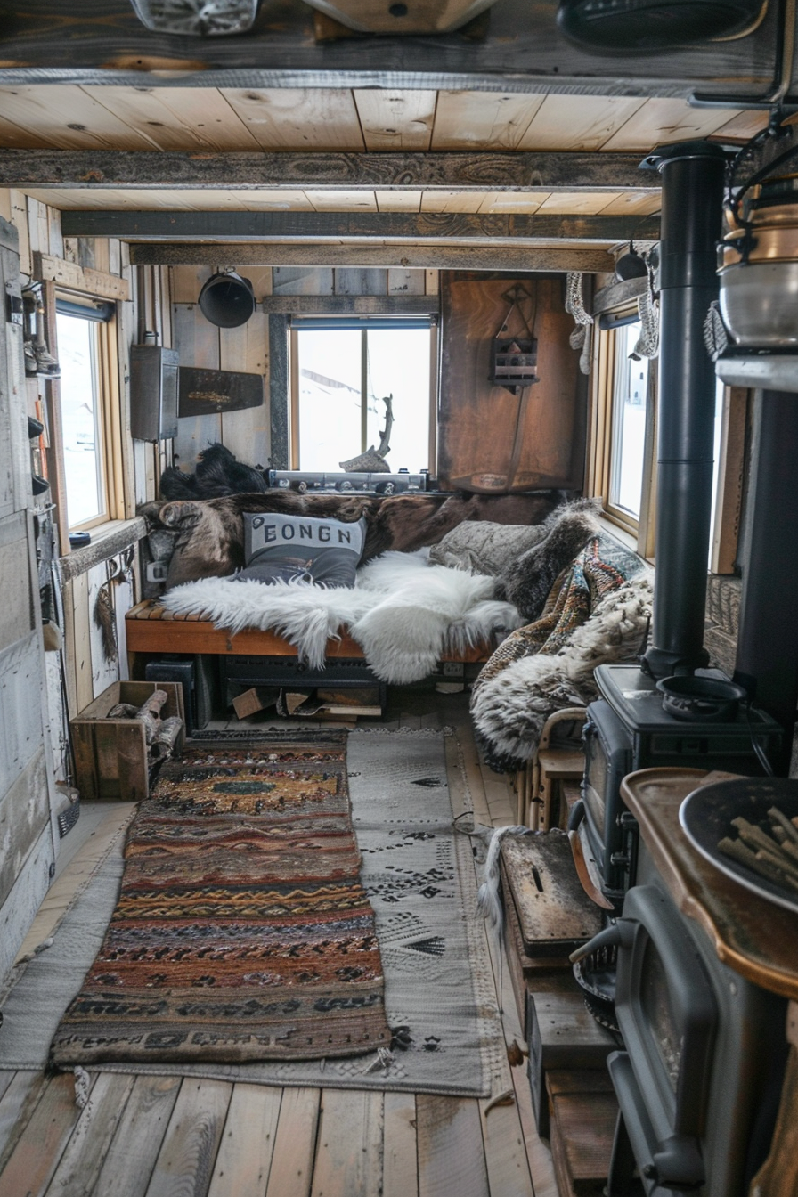
<instances>
[{"instance_id":1,"label":"dark grey throw pillow with pale lettering EONGN","mask_svg":"<svg viewBox=\"0 0 798 1197\"><path fill-rule=\"evenodd\" d=\"M366 540L366 521L343 523L278 512L244 514L245 582L317 582L353 587Z\"/></svg>"}]
</instances>

